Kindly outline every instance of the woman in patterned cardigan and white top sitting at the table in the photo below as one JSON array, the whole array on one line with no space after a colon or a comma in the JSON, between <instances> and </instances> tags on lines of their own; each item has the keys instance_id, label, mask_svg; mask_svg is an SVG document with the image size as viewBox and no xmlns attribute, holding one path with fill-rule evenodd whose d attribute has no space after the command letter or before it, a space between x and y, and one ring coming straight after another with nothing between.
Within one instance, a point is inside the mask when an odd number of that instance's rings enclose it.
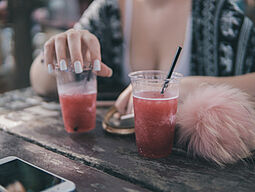
<instances>
[{"instance_id":1,"label":"woman in patterned cardigan and white top sitting at the table","mask_svg":"<svg viewBox=\"0 0 255 192\"><path fill-rule=\"evenodd\" d=\"M168 71L178 45L184 50L176 70L189 76L181 99L202 82L255 98L254 25L230 0L95 0L74 29L46 42L45 65L42 55L34 61L31 83L39 94L56 94L54 60L66 70L70 55L76 73L90 61L99 76L111 77L99 79L99 91L120 93L131 71ZM132 109L130 93L129 87L116 102L121 113Z\"/></svg>"}]
</instances>

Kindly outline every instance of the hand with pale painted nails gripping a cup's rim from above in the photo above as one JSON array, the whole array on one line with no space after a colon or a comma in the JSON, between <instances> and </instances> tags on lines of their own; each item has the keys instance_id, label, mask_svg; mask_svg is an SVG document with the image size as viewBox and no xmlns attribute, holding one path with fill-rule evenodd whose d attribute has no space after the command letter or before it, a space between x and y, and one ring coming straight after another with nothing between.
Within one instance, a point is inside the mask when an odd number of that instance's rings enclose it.
<instances>
[{"instance_id":1,"label":"hand with pale painted nails gripping a cup's rim from above","mask_svg":"<svg viewBox=\"0 0 255 192\"><path fill-rule=\"evenodd\" d=\"M67 70L70 62L75 73L81 73L93 63L97 75L112 75L112 70L101 62L97 37L87 30L70 29L50 38L44 45L44 62L49 73L56 67L62 71Z\"/></svg>"}]
</instances>

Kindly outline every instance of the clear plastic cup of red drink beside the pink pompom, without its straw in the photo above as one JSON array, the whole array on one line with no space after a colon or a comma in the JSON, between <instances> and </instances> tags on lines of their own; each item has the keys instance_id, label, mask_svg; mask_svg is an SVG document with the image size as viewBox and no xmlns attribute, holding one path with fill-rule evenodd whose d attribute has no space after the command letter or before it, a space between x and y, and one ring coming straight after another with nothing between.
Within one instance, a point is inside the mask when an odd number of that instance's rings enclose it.
<instances>
[{"instance_id":1,"label":"clear plastic cup of red drink beside the pink pompom, without its straw","mask_svg":"<svg viewBox=\"0 0 255 192\"><path fill-rule=\"evenodd\" d=\"M179 80L173 73L164 94L161 89L167 73L138 71L129 74L133 87L135 136L138 152L149 158L162 158L172 151Z\"/></svg>"}]
</instances>

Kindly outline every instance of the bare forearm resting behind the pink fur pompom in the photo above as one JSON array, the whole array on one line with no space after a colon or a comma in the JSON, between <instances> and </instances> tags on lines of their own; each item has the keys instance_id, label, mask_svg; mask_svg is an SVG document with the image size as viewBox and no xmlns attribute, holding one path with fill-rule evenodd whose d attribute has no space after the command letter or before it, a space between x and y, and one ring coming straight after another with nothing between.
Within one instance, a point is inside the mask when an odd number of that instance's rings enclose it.
<instances>
[{"instance_id":1,"label":"bare forearm resting behind the pink fur pompom","mask_svg":"<svg viewBox=\"0 0 255 192\"><path fill-rule=\"evenodd\" d=\"M248 93L252 100L255 100L255 73L249 73L240 76L231 77L208 77L208 76L191 76L185 77L181 81L180 98L184 98L189 92L198 88L203 83L212 85L226 84L238 88Z\"/></svg>"}]
</instances>

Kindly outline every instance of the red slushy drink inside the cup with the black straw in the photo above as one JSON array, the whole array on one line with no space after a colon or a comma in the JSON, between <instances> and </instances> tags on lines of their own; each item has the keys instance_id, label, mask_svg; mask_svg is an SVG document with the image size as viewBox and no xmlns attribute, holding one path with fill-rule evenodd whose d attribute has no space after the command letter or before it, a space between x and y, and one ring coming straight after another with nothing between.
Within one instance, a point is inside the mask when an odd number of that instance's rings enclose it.
<instances>
[{"instance_id":1,"label":"red slushy drink inside the cup with the black straw","mask_svg":"<svg viewBox=\"0 0 255 192\"><path fill-rule=\"evenodd\" d=\"M136 145L141 155L161 158L171 153L177 99L153 91L134 95Z\"/></svg>"}]
</instances>

